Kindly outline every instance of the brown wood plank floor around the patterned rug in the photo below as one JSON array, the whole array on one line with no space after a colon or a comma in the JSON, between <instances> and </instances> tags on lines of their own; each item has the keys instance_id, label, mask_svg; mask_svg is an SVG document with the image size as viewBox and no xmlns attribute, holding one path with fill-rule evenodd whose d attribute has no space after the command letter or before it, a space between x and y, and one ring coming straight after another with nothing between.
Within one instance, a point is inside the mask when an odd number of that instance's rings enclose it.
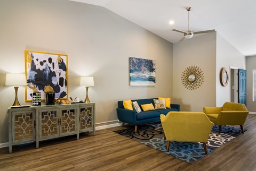
<instances>
[{"instance_id":1,"label":"brown wood plank floor around the patterned rug","mask_svg":"<svg viewBox=\"0 0 256 171\"><path fill-rule=\"evenodd\" d=\"M11 154L1 148L0 170L256 170L256 115L244 134L193 165L113 132L120 129L14 146Z\"/></svg>"}]
</instances>

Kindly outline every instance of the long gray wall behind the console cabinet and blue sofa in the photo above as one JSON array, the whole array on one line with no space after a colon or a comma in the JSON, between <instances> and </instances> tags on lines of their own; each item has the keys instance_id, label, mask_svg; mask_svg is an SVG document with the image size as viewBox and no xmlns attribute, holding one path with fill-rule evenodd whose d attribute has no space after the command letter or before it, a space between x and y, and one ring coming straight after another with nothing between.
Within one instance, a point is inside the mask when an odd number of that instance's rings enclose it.
<instances>
[{"instance_id":1,"label":"long gray wall behind the console cabinet and blue sofa","mask_svg":"<svg viewBox=\"0 0 256 171\"><path fill-rule=\"evenodd\" d=\"M173 45L106 8L67 0L0 2L0 144L8 141L14 88L6 73L24 73L24 50L68 55L69 97L85 99L80 76L93 76L96 126L117 123L117 100L172 97ZM129 57L156 60L156 86L129 86ZM25 102L25 87L18 92ZM172 100L172 102L177 102Z\"/></svg>"}]
</instances>

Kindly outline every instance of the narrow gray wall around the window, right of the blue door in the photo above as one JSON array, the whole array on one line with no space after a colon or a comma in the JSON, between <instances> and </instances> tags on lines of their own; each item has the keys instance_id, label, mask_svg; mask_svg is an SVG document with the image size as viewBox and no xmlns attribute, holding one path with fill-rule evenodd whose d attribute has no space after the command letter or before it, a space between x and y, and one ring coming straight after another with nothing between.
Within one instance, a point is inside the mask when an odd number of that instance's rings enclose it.
<instances>
[{"instance_id":1,"label":"narrow gray wall around the window, right of the blue door","mask_svg":"<svg viewBox=\"0 0 256 171\"><path fill-rule=\"evenodd\" d=\"M247 70L247 109L250 112L256 113L256 101L252 101L252 70L256 70L256 56L246 57Z\"/></svg>"}]
</instances>

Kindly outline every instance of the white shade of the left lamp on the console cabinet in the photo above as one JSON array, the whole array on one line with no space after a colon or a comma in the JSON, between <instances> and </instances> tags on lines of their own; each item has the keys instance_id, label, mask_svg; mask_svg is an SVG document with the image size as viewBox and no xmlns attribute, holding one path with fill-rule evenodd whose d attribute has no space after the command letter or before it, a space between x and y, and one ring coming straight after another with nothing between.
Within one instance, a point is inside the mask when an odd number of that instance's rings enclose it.
<instances>
[{"instance_id":1,"label":"white shade of the left lamp on the console cabinet","mask_svg":"<svg viewBox=\"0 0 256 171\"><path fill-rule=\"evenodd\" d=\"M6 74L5 86L26 86L26 75L25 74L17 74L10 73Z\"/></svg>"}]
</instances>

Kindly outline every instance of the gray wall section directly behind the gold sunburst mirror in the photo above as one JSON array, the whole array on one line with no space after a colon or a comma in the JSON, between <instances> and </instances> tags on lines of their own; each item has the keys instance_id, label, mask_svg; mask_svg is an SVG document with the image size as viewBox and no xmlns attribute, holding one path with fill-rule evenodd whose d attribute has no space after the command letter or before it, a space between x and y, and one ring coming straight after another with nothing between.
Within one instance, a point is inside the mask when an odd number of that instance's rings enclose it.
<instances>
[{"instance_id":1,"label":"gray wall section directly behind the gold sunburst mirror","mask_svg":"<svg viewBox=\"0 0 256 171\"><path fill-rule=\"evenodd\" d=\"M188 66L203 70L204 82L199 89L188 90L181 83L182 72ZM173 99L181 111L202 112L203 106L216 102L216 33L208 33L173 45Z\"/></svg>"}]
</instances>

